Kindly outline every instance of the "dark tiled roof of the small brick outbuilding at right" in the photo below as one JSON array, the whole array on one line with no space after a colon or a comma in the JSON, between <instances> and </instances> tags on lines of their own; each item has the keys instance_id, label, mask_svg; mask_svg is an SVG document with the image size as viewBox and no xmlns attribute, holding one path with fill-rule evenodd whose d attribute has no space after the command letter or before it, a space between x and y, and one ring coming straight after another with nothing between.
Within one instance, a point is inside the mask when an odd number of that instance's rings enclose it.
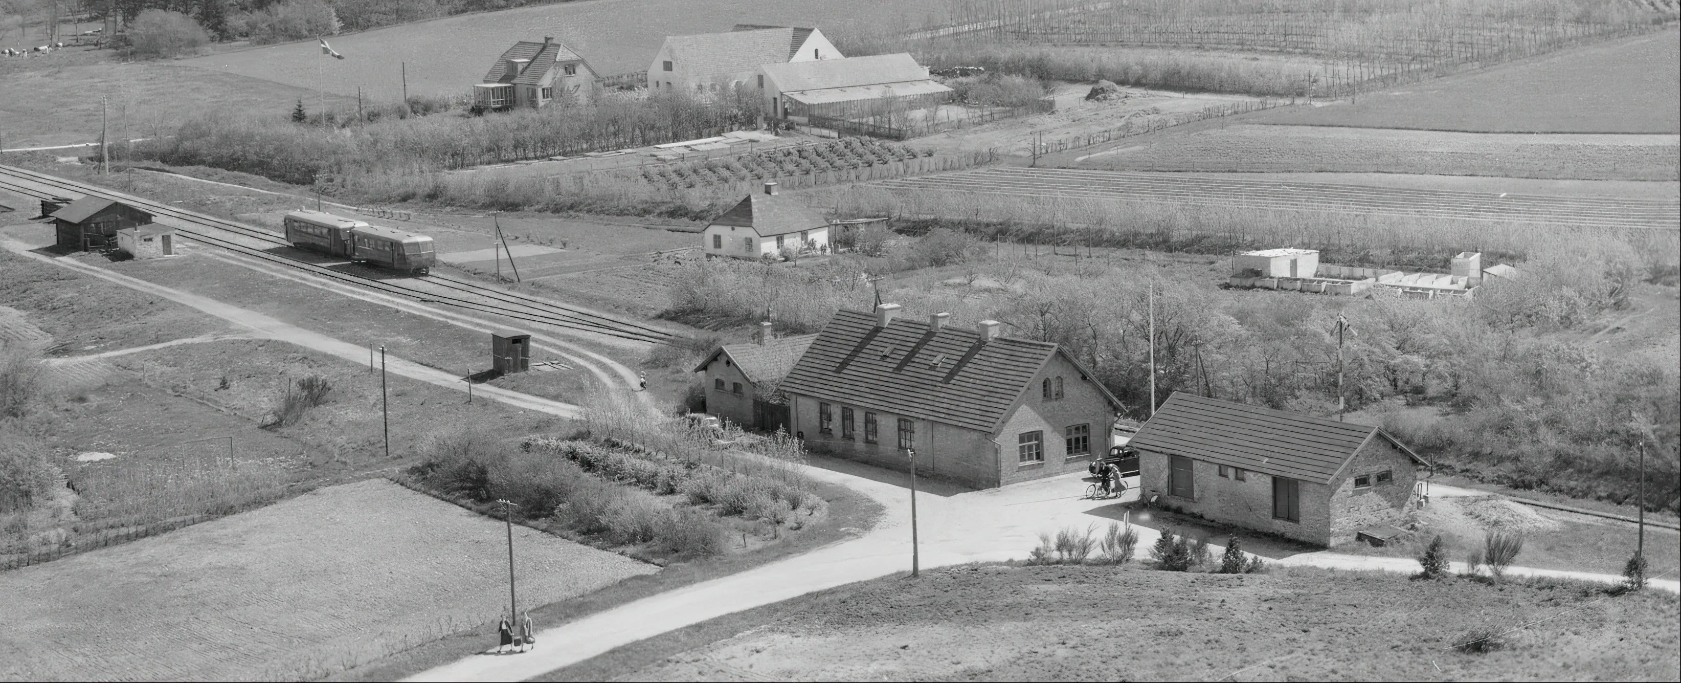
<instances>
[{"instance_id":1,"label":"dark tiled roof of the small brick outbuilding at right","mask_svg":"<svg viewBox=\"0 0 1681 683\"><path fill-rule=\"evenodd\" d=\"M1328 484L1372 439L1385 439L1424 463L1378 427L1182 392L1167 399L1128 446Z\"/></svg>"}]
</instances>

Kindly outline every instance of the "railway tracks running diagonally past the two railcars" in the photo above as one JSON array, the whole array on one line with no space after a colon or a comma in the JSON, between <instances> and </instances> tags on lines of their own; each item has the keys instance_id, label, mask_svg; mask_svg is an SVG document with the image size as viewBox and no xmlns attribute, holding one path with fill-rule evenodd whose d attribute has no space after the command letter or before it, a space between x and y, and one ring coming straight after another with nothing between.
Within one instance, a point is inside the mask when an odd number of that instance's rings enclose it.
<instances>
[{"instance_id":1,"label":"railway tracks running diagonally past the two railcars","mask_svg":"<svg viewBox=\"0 0 1681 683\"><path fill-rule=\"evenodd\" d=\"M328 278L341 283L351 283L368 289L382 291L387 294L407 296L424 303L454 306L476 313L491 313L516 321L551 325L565 330L590 331L634 342L669 343L676 338L676 335L654 326L585 311L580 308L541 299L536 296L491 288L467 279L459 279L442 274L427 274L427 276L403 278L403 279L378 279L356 273L338 271L308 261L292 259L287 256L269 252L267 249L272 249L276 246L291 247L291 244L287 244L282 236L264 230L261 227L252 227L235 220L219 219L213 215L205 215L185 209L177 209L168 204L131 197L96 185L57 178L52 175L37 173L25 168L0 167L0 188L7 188L37 199L49 199L55 195L57 197L94 195L94 197L121 200L124 204L145 209L153 215L170 217L192 225L192 227L177 227L177 232L202 244L227 249L242 256L281 264L286 267L299 269L313 276ZM242 241L244 242L256 241L259 246L242 244ZM425 286L417 286L415 283Z\"/></svg>"}]
</instances>

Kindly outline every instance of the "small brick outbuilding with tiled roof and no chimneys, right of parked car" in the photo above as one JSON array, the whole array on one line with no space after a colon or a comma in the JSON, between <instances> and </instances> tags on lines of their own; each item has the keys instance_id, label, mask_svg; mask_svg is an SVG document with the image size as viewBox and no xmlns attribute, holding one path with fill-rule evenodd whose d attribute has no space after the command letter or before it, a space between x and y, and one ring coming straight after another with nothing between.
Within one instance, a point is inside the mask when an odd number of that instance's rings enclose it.
<instances>
[{"instance_id":1,"label":"small brick outbuilding with tiled roof and no chimneys, right of parked car","mask_svg":"<svg viewBox=\"0 0 1681 683\"><path fill-rule=\"evenodd\" d=\"M1146 500L1308 543L1382 538L1417 511L1424 461L1378 427L1173 394L1128 446Z\"/></svg>"}]
</instances>

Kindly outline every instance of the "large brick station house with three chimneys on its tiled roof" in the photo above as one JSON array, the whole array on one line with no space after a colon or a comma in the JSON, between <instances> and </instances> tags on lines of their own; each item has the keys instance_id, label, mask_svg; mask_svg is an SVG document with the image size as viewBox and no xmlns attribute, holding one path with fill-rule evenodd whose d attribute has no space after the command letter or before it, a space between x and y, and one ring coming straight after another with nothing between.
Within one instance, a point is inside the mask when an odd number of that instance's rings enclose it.
<instances>
[{"instance_id":1,"label":"large brick station house with three chimneys on its tiled roof","mask_svg":"<svg viewBox=\"0 0 1681 683\"><path fill-rule=\"evenodd\" d=\"M1084 471L1120 402L1056 343L839 311L782 380L807 447L990 488Z\"/></svg>"}]
</instances>

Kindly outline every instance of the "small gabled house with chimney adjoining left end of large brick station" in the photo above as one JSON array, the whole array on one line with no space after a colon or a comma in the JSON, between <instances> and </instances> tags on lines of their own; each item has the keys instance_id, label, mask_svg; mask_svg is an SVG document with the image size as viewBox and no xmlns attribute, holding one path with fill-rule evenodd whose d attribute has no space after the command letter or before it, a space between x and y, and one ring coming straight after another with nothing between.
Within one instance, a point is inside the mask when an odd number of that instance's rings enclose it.
<instances>
[{"instance_id":1,"label":"small gabled house with chimney adjoining left end of large brick station","mask_svg":"<svg viewBox=\"0 0 1681 683\"><path fill-rule=\"evenodd\" d=\"M706 414L768 432L788 426L782 379L817 335L772 338L761 323L753 343L726 343L694 367L706 390ZM792 427L790 427L792 431Z\"/></svg>"}]
</instances>

